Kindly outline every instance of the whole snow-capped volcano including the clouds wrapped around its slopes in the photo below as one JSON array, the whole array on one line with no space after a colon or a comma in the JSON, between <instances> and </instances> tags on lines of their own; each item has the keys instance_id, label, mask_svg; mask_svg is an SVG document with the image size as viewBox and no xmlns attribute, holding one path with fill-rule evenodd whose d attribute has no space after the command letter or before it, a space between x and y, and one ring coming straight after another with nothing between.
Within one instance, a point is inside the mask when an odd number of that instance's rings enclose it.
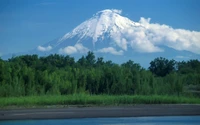
<instances>
[{"instance_id":1,"label":"whole snow-capped volcano including the clouds wrapped around its slopes","mask_svg":"<svg viewBox=\"0 0 200 125\"><path fill-rule=\"evenodd\" d=\"M121 10L106 9L29 54L80 57L88 51L119 63L131 59L142 66L160 56L176 60L200 59L200 32L150 23L150 18L141 17L134 22L122 16Z\"/></svg>"}]
</instances>

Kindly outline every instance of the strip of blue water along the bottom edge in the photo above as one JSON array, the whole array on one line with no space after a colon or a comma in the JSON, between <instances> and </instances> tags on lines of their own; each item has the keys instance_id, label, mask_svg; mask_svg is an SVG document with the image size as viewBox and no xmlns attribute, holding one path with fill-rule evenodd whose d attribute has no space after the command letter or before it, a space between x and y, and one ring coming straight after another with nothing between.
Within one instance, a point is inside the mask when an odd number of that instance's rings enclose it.
<instances>
[{"instance_id":1,"label":"strip of blue water along the bottom edge","mask_svg":"<svg viewBox=\"0 0 200 125\"><path fill-rule=\"evenodd\" d=\"M0 121L0 125L200 125L200 116Z\"/></svg>"}]
</instances>

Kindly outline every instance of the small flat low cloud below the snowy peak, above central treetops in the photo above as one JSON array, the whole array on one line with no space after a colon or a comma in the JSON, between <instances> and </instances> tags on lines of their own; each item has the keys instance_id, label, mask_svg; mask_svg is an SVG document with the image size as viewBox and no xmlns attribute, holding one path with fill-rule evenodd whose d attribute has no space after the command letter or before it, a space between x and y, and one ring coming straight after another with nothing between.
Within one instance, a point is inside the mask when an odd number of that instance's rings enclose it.
<instances>
[{"instance_id":1,"label":"small flat low cloud below the snowy peak, above central treetops","mask_svg":"<svg viewBox=\"0 0 200 125\"><path fill-rule=\"evenodd\" d=\"M102 49L98 50L97 52L100 52L100 53L111 53L113 55L123 55L123 50L117 51L113 47L102 48Z\"/></svg>"}]
</instances>

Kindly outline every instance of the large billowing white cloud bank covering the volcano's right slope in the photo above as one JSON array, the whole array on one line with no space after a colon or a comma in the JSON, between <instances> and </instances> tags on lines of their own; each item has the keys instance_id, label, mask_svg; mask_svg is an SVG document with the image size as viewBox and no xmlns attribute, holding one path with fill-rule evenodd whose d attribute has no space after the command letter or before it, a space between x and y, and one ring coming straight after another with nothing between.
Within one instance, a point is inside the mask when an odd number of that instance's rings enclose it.
<instances>
[{"instance_id":1,"label":"large billowing white cloud bank covering the volcano's right slope","mask_svg":"<svg viewBox=\"0 0 200 125\"><path fill-rule=\"evenodd\" d=\"M187 50L200 54L200 32L174 29L168 25L150 23L150 18L141 17L138 26L114 32L112 38L123 50L131 46L134 51L143 53L163 52L164 45L175 50Z\"/></svg>"}]
</instances>

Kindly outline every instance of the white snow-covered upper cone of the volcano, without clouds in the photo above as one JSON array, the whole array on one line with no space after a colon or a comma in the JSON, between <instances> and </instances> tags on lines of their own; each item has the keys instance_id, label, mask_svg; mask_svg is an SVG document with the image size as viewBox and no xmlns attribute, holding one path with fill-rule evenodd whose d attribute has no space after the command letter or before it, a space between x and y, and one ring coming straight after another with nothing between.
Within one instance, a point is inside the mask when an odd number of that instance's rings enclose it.
<instances>
[{"instance_id":1,"label":"white snow-covered upper cone of the volcano, without clouds","mask_svg":"<svg viewBox=\"0 0 200 125\"><path fill-rule=\"evenodd\" d=\"M135 23L126 17L122 17L119 14L119 10L103 10L95 14L91 19L83 22L77 26L72 32L64 35L60 41L63 41L74 36L78 36L80 39L90 37L93 44L98 39L104 40L105 34L109 34L109 37L115 38L115 33L123 32L124 29L131 27L142 26L139 23Z\"/></svg>"}]
</instances>

